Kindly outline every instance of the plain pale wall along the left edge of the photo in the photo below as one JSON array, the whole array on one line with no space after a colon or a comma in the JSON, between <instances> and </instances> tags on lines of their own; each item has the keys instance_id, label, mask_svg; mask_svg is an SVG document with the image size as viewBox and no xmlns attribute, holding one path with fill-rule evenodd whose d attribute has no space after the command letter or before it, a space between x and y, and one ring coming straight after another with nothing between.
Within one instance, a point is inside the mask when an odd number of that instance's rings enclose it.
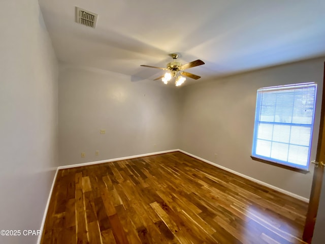
<instances>
[{"instance_id":1,"label":"plain pale wall along the left edge of the photo","mask_svg":"<svg viewBox=\"0 0 325 244\"><path fill-rule=\"evenodd\" d=\"M58 162L57 61L37 0L2 1L1 9L0 229L39 230Z\"/></svg>"}]
</instances>

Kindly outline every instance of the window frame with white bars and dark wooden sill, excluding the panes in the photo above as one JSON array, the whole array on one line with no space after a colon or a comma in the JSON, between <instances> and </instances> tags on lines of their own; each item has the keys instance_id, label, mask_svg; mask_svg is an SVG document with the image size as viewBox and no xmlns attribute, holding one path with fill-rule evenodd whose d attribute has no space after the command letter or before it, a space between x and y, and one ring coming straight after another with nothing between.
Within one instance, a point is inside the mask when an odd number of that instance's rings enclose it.
<instances>
[{"instance_id":1,"label":"window frame with white bars and dark wooden sill, excluding the panes","mask_svg":"<svg viewBox=\"0 0 325 244\"><path fill-rule=\"evenodd\" d=\"M313 114L312 114L312 121L311 124L295 124L295 123L282 123L282 122L269 122L269 121L261 121L258 118L258 115L261 114L261 108L262 106L258 106L258 95L259 93L261 93L261 90L277 90L279 92L288 89L289 87L297 87L299 88L299 86L301 86L300 89L303 89L306 86L315 86L315 93L314 93L314 104L313 104ZM263 92L262 92L263 93ZM313 127L314 127L314 120L315 120L315 111L316 111L316 97L317 97L317 83L315 82L308 82L308 83L300 83L300 84L290 84L290 85L280 85L280 86L271 86L271 87L262 87L262 88L258 88L257 92L256 92L256 104L255 104L255 116L254 116L254 127L253 127L253 142L252 142L252 151L251 151L251 159L255 160L255 161L259 161L259 162L263 162L263 163L267 163L267 164L271 164L274 166L278 166L281 168L285 168L285 169L289 169L289 170L294 170L294 171L298 171L301 173L308 173L309 172L309 165L310 165L310 155L311 155L311 145L312 145L312 138L313 138ZM298 165L295 163L290 163L290 162L286 162L286 161L282 161L282 160L278 160L278 159L274 159L271 157L265 157L265 156L261 156L261 155L256 155L256 143L257 143L257 134L258 134L258 130L256 126L256 123L259 124L270 124L270 125L286 125L286 126L299 126L299 127L308 127L311 130L310 133L310 141L309 141L309 145L305 146L308 148L308 158L307 158L307 165L303 166L303 165ZM267 140L270 141L270 140ZM273 140L271 140L271 143L273 142ZM290 143L289 143L290 145ZM304 145L300 145L299 146L304 146Z\"/></svg>"}]
</instances>

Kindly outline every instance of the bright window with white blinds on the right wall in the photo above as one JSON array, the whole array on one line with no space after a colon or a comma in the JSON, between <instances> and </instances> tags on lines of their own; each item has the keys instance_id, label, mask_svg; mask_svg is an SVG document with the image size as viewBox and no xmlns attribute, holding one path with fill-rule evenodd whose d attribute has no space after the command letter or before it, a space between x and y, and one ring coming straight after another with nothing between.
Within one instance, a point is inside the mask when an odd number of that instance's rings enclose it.
<instances>
[{"instance_id":1,"label":"bright window with white blinds on the right wall","mask_svg":"<svg viewBox=\"0 0 325 244\"><path fill-rule=\"evenodd\" d=\"M252 158L308 170L315 83L257 90Z\"/></svg>"}]
</instances>

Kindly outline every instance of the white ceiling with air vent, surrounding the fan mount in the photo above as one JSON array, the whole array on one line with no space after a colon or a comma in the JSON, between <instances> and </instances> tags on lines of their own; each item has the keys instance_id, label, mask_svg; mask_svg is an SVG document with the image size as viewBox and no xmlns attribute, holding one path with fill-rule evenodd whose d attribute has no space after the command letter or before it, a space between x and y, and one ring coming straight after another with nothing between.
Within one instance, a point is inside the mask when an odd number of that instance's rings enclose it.
<instances>
[{"instance_id":1,"label":"white ceiling with air vent, surrounding the fan mount","mask_svg":"<svg viewBox=\"0 0 325 244\"><path fill-rule=\"evenodd\" d=\"M324 0L39 0L61 62L154 79L169 53L198 81L325 56ZM99 15L75 22L75 7ZM155 81L159 82L159 81ZM187 84L196 82L187 78Z\"/></svg>"}]
</instances>

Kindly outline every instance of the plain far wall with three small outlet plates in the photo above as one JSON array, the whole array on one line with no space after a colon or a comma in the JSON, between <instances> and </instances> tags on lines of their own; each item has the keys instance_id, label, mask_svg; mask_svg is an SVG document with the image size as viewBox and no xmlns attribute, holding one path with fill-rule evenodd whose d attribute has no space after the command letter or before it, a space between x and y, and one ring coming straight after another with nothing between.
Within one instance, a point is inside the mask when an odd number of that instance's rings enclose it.
<instances>
[{"instance_id":1,"label":"plain far wall with three small outlet plates","mask_svg":"<svg viewBox=\"0 0 325 244\"><path fill-rule=\"evenodd\" d=\"M178 147L176 89L159 81L134 82L130 76L63 64L59 73L61 165ZM105 135L101 129L106 129Z\"/></svg>"}]
</instances>

